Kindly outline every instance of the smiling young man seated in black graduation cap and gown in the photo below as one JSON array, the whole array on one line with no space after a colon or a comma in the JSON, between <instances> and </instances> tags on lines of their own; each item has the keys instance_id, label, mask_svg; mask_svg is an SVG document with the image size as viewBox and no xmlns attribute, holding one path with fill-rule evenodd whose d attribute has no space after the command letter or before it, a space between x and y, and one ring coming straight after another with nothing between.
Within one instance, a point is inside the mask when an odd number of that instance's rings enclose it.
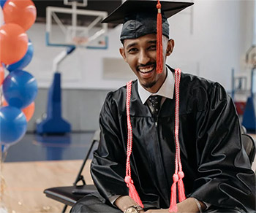
<instances>
[{"instance_id":1,"label":"smiling young man seated in black graduation cap and gown","mask_svg":"<svg viewBox=\"0 0 256 213\"><path fill-rule=\"evenodd\" d=\"M71 212L255 212L255 174L230 96L159 65L174 47L167 18L190 5L127 0L105 19L123 23L120 53L138 80L108 94L91 163L99 193Z\"/></svg>"}]
</instances>

